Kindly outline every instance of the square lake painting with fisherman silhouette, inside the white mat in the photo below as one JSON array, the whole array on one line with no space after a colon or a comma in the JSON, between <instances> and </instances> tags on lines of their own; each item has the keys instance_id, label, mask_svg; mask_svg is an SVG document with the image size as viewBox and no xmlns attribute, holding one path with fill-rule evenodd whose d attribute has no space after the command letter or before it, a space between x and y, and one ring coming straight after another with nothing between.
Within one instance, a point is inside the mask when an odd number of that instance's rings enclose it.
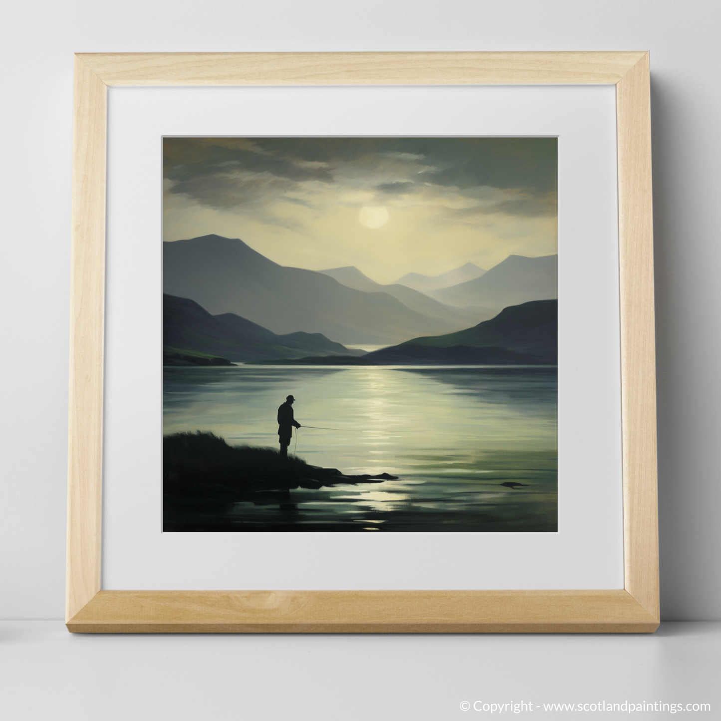
<instances>
[{"instance_id":1,"label":"square lake painting with fisherman silhouette, inside the white mat","mask_svg":"<svg viewBox=\"0 0 721 721\"><path fill-rule=\"evenodd\" d=\"M557 138L163 156L165 532L557 531Z\"/></svg>"}]
</instances>

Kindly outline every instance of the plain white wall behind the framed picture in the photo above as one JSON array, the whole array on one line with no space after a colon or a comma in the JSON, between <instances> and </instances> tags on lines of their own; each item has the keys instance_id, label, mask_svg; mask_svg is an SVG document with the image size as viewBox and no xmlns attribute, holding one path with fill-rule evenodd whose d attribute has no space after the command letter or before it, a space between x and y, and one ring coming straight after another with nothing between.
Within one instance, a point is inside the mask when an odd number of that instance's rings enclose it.
<instances>
[{"instance_id":1,"label":"plain white wall behind the framed picture","mask_svg":"<svg viewBox=\"0 0 721 721\"><path fill-rule=\"evenodd\" d=\"M30 0L2 14L0 618L63 616L72 53L650 50L662 611L721 619L712 0Z\"/></svg>"}]
</instances>

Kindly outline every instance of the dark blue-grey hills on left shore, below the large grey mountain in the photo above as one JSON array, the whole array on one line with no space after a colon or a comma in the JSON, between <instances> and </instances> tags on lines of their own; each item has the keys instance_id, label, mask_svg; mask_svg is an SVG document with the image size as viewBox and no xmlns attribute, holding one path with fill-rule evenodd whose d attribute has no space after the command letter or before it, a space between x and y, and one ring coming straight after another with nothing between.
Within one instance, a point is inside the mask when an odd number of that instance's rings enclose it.
<instances>
[{"instance_id":1,"label":"dark blue-grey hills on left shore, below the large grey mountain","mask_svg":"<svg viewBox=\"0 0 721 721\"><path fill-rule=\"evenodd\" d=\"M163 345L168 358L220 355L231 361L302 358L306 355L360 355L327 337L296 332L275 335L233 313L213 316L190 298L163 296ZM167 363L180 365L181 363ZM189 363L182 363L187 365ZM207 363L218 365L218 363Z\"/></svg>"}]
</instances>

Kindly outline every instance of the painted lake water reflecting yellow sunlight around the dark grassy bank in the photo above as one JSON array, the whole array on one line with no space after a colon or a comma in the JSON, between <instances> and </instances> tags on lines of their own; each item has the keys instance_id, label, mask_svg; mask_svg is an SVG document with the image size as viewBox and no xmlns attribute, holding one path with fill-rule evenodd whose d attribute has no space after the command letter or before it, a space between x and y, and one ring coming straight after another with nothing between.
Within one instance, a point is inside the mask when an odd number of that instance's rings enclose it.
<instances>
[{"instance_id":1,"label":"painted lake water reflecting yellow sunlight around the dark grassy bank","mask_svg":"<svg viewBox=\"0 0 721 721\"><path fill-rule=\"evenodd\" d=\"M167 506L167 528L556 530L556 368L165 368L164 433L278 448L275 412L288 394L299 423L334 429L301 428L291 453L399 478Z\"/></svg>"}]
</instances>

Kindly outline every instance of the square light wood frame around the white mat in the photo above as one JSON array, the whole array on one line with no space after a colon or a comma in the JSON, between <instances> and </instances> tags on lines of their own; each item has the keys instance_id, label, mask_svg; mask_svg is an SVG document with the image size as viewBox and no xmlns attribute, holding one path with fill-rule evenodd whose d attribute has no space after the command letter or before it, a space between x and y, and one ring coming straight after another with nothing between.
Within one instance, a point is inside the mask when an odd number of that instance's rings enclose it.
<instances>
[{"instance_id":1,"label":"square light wood frame around the white mat","mask_svg":"<svg viewBox=\"0 0 721 721\"><path fill-rule=\"evenodd\" d=\"M106 87L319 84L616 85L623 590L101 590ZM648 53L79 53L73 162L66 616L71 632L655 631Z\"/></svg>"}]
</instances>

